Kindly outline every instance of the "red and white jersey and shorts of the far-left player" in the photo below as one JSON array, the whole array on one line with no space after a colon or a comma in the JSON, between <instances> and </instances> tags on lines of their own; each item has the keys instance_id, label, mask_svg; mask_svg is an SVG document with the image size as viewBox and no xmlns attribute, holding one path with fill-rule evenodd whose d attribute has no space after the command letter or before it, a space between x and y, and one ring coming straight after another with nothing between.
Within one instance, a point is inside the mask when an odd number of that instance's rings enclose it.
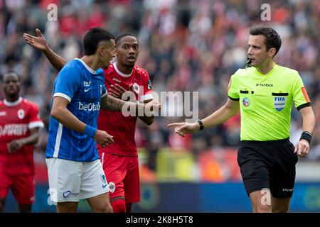
<instances>
[{"instance_id":1,"label":"red and white jersey and shorts of the far-left player","mask_svg":"<svg viewBox=\"0 0 320 227\"><path fill-rule=\"evenodd\" d=\"M30 135L30 129L43 127L38 106L19 98L15 102L0 101L0 198L13 192L18 204L34 200L33 145L9 153L7 143Z\"/></svg>"}]
</instances>

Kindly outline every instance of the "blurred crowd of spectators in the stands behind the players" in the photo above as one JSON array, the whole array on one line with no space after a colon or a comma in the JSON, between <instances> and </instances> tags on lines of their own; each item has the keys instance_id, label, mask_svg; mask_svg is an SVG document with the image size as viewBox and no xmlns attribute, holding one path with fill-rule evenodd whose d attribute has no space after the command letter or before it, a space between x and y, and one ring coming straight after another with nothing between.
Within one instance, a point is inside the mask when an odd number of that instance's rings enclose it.
<instances>
[{"instance_id":1,"label":"blurred crowd of spectators in the stands behind the players","mask_svg":"<svg viewBox=\"0 0 320 227\"><path fill-rule=\"evenodd\" d=\"M21 75L21 96L40 106L41 118L46 123L36 145L36 162L44 162L50 99L58 72L40 51L23 40L23 33L36 35L35 29L40 28L50 48L72 60L82 55L82 35L92 27L105 28L114 35L132 32L139 39L137 65L149 72L154 92L199 92L198 116L203 118L228 99L230 75L245 67L248 31L255 25L272 26L279 33L282 48L275 61L298 70L304 81L317 121L311 152L305 160L320 160L320 1L268 1L271 21L262 21L260 17L264 3L257 0L0 0L0 74L15 70ZM49 4L58 6L57 21L48 21ZM0 98L4 98L2 90ZM164 108L172 106L165 104ZM208 162L212 155L218 162L224 160L223 165L235 165L238 173L237 163L228 164L229 156L225 154L229 149L235 151L239 143L239 115L222 126L186 138L179 138L166 127L173 121L184 121L184 117L158 117L151 126L137 122L136 141L141 148L139 153L145 168L141 171L146 179L161 172L161 166L168 169L171 159L176 158L173 152L185 155L179 163L193 167L194 175L199 171L194 163ZM297 143L301 133L302 119L294 110L293 143ZM212 176L215 165L210 164L204 179L219 179ZM220 172L224 171L223 165ZM181 175L184 170L181 168Z\"/></svg>"}]
</instances>

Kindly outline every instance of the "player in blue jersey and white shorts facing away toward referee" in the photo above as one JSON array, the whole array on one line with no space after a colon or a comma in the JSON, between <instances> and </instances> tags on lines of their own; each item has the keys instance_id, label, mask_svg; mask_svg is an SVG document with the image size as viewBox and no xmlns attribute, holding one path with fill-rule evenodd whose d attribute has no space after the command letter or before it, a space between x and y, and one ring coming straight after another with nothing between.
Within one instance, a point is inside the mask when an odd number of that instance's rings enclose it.
<instances>
[{"instance_id":1,"label":"player in blue jersey and white shorts facing away toward referee","mask_svg":"<svg viewBox=\"0 0 320 227\"><path fill-rule=\"evenodd\" d=\"M112 135L97 129L99 110L121 111L124 101L107 95L104 72L114 57L114 36L92 28L83 38L85 55L68 62L55 79L46 163L50 199L57 212L76 212L87 199L96 212L112 212L109 189L96 143L113 143ZM150 104L127 102L130 109ZM153 106L153 105L151 105Z\"/></svg>"}]
</instances>

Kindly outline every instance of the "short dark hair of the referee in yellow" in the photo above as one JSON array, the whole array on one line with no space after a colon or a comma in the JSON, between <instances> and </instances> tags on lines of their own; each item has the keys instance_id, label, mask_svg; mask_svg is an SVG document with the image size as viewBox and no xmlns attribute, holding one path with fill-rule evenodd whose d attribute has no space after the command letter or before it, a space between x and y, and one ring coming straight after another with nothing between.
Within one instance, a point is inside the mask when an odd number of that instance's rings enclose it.
<instances>
[{"instance_id":1,"label":"short dark hair of the referee in yellow","mask_svg":"<svg viewBox=\"0 0 320 227\"><path fill-rule=\"evenodd\" d=\"M274 56L277 55L282 41L280 35L273 28L255 26L250 28L249 33L250 35L265 35L265 45L267 47L267 50L270 50L270 48L275 48L276 52Z\"/></svg>"}]
</instances>

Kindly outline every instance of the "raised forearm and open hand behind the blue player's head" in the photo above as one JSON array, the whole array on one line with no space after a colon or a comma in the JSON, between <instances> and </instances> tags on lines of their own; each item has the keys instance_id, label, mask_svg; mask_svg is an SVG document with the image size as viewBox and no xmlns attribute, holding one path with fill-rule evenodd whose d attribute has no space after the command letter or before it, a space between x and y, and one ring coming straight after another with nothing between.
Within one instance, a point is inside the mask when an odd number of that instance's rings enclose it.
<instances>
[{"instance_id":1,"label":"raised forearm and open hand behind the blue player's head","mask_svg":"<svg viewBox=\"0 0 320 227\"><path fill-rule=\"evenodd\" d=\"M44 53L44 55L46 55L46 57L48 58L51 65L53 65L55 69L60 71L67 61L49 48L48 43L46 43L46 38L43 36L43 34L38 28L36 29L36 33L38 36L23 33L23 38L33 48L41 50Z\"/></svg>"}]
</instances>

